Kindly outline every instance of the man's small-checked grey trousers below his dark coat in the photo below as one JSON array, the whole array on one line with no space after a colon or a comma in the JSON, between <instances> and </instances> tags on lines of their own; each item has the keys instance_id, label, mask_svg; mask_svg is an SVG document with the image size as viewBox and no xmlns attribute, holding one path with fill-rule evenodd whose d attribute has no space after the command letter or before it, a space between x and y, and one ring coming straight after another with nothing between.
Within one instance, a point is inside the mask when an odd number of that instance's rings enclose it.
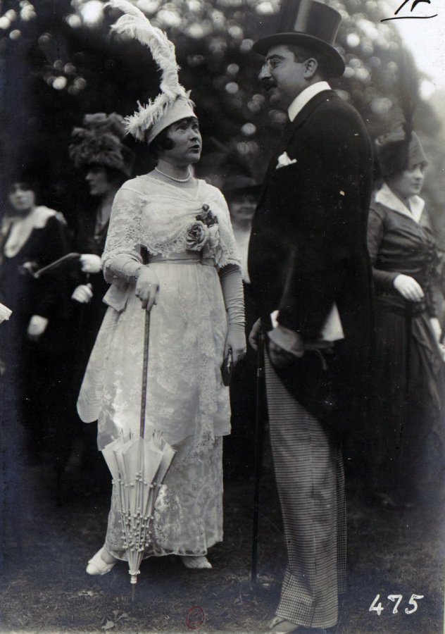
<instances>
[{"instance_id":1,"label":"man's small-checked grey trousers below his dark coat","mask_svg":"<svg viewBox=\"0 0 445 634\"><path fill-rule=\"evenodd\" d=\"M270 444L287 547L277 616L306 628L338 620L346 590L341 447L286 390L265 353Z\"/></svg>"}]
</instances>

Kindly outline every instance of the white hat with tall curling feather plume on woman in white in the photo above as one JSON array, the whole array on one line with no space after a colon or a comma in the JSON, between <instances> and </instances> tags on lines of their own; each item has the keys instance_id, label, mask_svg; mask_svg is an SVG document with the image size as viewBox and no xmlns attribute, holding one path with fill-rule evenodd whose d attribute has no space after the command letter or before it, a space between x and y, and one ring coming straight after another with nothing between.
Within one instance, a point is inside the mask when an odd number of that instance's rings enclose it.
<instances>
[{"instance_id":1,"label":"white hat with tall curling feather plume on woman in white","mask_svg":"<svg viewBox=\"0 0 445 634\"><path fill-rule=\"evenodd\" d=\"M194 104L189 99L189 92L180 85L175 46L165 33L153 27L146 15L127 0L110 0L106 6L125 13L111 29L148 46L162 72L161 94L156 99L149 99L145 105L138 102L137 111L125 118L127 132L139 141L146 139L150 144L159 132L175 121L196 116Z\"/></svg>"}]
</instances>

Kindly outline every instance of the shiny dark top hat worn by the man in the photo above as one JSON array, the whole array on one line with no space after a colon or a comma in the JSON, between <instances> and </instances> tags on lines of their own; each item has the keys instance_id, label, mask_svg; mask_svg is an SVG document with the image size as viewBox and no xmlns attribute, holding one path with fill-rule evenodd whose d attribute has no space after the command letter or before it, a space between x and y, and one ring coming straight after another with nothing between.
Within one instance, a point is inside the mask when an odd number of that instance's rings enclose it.
<instances>
[{"instance_id":1,"label":"shiny dark top hat worn by the man","mask_svg":"<svg viewBox=\"0 0 445 634\"><path fill-rule=\"evenodd\" d=\"M253 44L253 50L266 55L272 46L291 44L323 54L330 77L344 73L344 61L334 49L341 15L330 6L315 0L282 0L279 27Z\"/></svg>"}]
</instances>

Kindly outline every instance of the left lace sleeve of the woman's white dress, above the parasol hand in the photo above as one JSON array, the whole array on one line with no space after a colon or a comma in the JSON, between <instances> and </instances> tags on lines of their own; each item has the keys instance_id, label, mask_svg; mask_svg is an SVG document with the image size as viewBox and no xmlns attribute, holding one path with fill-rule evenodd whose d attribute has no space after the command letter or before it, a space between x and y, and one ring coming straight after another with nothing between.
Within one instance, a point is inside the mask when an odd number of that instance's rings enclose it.
<instances>
[{"instance_id":1,"label":"left lace sleeve of the woman's white dress, above the parasol hand","mask_svg":"<svg viewBox=\"0 0 445 634\"><path fill-rule=\"evenodd\" d=\"M111 210L110 226L106 237L102 266L104 278L113 282L116 273L124 273L125 265L136 265L142 262L141 256L141 215L142 199L138 192L121 187L115 195ZM134 268L134 266L127 267ZM125 277L123 274L122 277Z\"/></svg>"}]
</instances>

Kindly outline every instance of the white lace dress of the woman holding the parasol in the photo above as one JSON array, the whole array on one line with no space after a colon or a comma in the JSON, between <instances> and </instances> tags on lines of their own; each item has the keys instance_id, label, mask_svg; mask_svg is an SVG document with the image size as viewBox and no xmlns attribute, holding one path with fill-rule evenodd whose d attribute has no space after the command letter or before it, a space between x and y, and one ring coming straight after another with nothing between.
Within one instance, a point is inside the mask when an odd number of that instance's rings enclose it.
<instances>
[{"instance_id":1,"label":"white lace dress of the woman holding the parasol","mask_svg":"<svg viewBox=\"0 0 445 634\"><path fill-rule=\"evenodd\" d=\"M191 251L194 261L174 261ZM162 260L150 262L160 293L151 311L146 427L177 450L146 556L206 554L223 537L221 437L230 433L229 393L220 373L227 313L218 270L239 266L220 191L199 180L190 193L145 175L126 182L115 197L104 275L125 300L106 312L77 404L83 421L99 420L99 449L121 434L139 434L145 311L134 295L135 278L123 282L113 270L122 256L143 263L144 253ZM106 547L120 559L122 542L113 490Z\"/></svg>"}]
</instances>

